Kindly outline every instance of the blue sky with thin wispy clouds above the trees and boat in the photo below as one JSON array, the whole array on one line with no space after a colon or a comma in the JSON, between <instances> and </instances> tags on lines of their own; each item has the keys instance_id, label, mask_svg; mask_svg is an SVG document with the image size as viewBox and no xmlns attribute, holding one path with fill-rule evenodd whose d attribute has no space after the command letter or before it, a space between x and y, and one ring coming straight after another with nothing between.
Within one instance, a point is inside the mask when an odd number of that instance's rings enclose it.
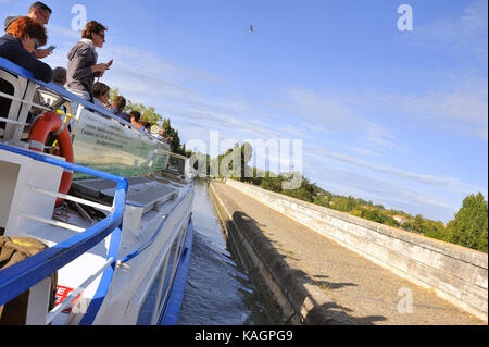
<instances>
[{"instance_id":1,"label":"blue sky with thin wispy clouds above the trees and boat","mask_svg":"<svg viewBox=\"0 0 489 347\"><path fill-rule=\"evenodd\" d=\"M84 4L109 27L104 82L184 142L301 139L302 172L326 190L443 222L467 195L487 199L487 0L46 2L46 62L66 65ZM412 32L397 26L404 3Z\"/></svg>"}]
</instances>

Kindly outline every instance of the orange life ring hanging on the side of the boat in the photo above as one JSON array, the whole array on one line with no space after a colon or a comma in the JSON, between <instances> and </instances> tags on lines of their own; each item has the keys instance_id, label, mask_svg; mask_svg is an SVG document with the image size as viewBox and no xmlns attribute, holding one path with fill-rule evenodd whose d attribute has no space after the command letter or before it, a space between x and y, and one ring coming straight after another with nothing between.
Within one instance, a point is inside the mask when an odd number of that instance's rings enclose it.
<instances>
[{"instance_id":1,"label":"orange life ring hanging on the side of the boat","mask_svg":"<svg viewBox=\"0 0 489 347\"><path fill-rule=\"evenodd\" d=\"M57 136L57 139L60 142L61 157L64 157L66 162L75 162L70 133L64 126L63 120L55 113L46 112L36 120L36 123L34 123L34 126L29 133L29 149L43 152L45 144L50 133ZM72 179L73 173L65 170L61 176L60 188L58 191L61 194L67 194L70 191L70 187L72 186ZM62 202L62 198L57 198L55 206L58 207Z\"/></svg>"}]
</instances>

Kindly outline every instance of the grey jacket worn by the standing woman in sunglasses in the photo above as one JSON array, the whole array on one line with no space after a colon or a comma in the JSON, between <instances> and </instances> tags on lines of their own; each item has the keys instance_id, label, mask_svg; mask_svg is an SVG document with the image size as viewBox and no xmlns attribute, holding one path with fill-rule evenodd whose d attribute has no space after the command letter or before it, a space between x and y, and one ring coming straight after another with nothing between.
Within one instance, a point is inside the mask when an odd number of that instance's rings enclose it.
<instances>
[{"instance_id":1,"label":"grey jacket worn by the standing woman in sunglasses","mask_svg":"<svg viewBox=\"0 0 489 347\"><path fill-rule=\"evenodd\" d=\"M78 41L70 50L66 69L66 87L73 90L87 91L92 95L93 79L99 73L92 73L90 66L97 64L97 53L85 41Z\"/></svg>"}]
</instances>

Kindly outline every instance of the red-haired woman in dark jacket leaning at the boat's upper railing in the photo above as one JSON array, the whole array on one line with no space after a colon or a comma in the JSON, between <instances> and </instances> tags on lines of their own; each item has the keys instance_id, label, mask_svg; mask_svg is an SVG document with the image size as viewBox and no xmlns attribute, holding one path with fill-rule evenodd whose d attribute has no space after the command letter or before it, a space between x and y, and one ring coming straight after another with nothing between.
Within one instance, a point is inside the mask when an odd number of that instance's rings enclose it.
<instances>
[{"instance_id":1,"label":"red-haired woman in dark jacket leaning at the boat's upper railing","mask_svg":"<svg viewBox=\"0 0 489 347\"><path fill-rule=\"evenodd\" d=\"M0 57L30 71L36 79L51 82L52 69L33 54L47 40L46 29L41 24L28 16L18 17L9 26L7 34L0 37Z\"/></svg>"}]
</instances>

